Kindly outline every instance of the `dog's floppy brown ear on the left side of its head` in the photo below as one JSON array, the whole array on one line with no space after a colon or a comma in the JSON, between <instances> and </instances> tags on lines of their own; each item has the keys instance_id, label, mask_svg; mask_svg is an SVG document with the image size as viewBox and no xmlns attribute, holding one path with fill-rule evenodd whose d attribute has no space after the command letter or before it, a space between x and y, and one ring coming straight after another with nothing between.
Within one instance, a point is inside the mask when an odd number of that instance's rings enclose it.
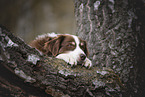
<instances>
[{"instance_id":1,"label":"dog's floppy brown ear on the left side of its head","mask_svg":"<svg viewBox=\"0 0 145 97\"><path fill-rule=\"evenodd\" d=\"M63 41L65 36L58 36L49 42L46 42L44 45L44 49L46 50L46 53L50 52L53 56L56 56L59 52L61 43Z\"/></svg>"}]
</instances>

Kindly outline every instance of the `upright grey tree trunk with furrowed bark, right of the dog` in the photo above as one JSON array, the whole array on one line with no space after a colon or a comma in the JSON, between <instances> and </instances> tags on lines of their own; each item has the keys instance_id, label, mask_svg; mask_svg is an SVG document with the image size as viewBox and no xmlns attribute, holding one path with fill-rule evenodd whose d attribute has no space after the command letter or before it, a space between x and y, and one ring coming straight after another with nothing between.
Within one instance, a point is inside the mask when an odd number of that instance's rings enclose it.
<instances>
[{"instance_id":1,"label":"upright grey tree trunk with furrowed bark, right of the dog","mask_svg":"<svg viewBox=\"0 0 145 97\"><path fill-rule=\"evenodd\" d=\"M144 95L144 4L143 0L75 0L77 35L88 41L93 65L119 75L127 90L118 96Z\"/></svg>"}]
</instances>

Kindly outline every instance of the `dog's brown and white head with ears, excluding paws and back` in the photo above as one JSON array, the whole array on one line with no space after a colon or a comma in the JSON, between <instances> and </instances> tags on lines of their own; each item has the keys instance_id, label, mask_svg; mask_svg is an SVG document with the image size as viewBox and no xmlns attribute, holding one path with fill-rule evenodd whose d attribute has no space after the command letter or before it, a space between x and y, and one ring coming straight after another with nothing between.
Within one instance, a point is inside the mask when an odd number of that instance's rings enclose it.
<instances>
[{"instance_id":1,"label":"dog's brown and white head with ears, excluding paws and back","mask_svg":"<svg viewBox=\"0 0 145 97\"><path fill-rule=\"evenodd\" d=\"M86 41L75 35L58 35L44 45L45 54L57 56L60 54L69 54L76 58L78 64L81 64L88 56Z\"/></svg>"}]
</instances>

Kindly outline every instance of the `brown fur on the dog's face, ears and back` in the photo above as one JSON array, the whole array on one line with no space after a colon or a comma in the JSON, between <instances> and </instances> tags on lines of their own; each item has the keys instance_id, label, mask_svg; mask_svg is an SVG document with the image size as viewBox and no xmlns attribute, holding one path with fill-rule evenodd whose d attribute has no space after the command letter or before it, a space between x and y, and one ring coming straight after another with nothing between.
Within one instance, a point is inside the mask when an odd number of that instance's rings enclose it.
<instances>
[{"instance_id":1,"label":"brown fur on the dog's face, ears and back","mask_svg":"<svg viewBox=\"0 0 145 97\"><path fill-rule=\"evenodd\" d=\"M79 38L80 39L80 38ZM83 45L80 45L81 49L88 56L88 49L86 41L80 39ZM30 45L43 54L56 56L60 53L65 53L67 51L73 51L76 48L75 41L73 37L69 35L58 35L57 37L44 37L33 40Z\"/></svg>"}]
</instances>

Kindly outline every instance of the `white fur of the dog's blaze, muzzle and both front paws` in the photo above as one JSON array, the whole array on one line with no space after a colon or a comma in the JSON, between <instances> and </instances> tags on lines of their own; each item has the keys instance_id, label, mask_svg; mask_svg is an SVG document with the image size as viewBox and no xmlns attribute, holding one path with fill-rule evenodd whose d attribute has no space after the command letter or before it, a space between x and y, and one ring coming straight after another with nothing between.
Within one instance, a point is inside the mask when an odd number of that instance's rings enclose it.
<instances>
[{"instance_id":1,"label":"white fur of the dog's blaze, muzzle and both front paws","mask_svg":"<svg viewBox=\"0 0 145 97\"><path fill-rule=\"evenodd\" d=\"M76 48L74 49L74 51L69 51L67 53L59 54L56 56L56 58L63 59L67 63L71 64L71 66L73 66L73 65L77 65L77 61L79 61L80 54L84 54L84 55L86 54L79 46L80 41L78 37L75 35L71 35L71 36L74 38L76 42ZM92 62L86 57L82 65L90 68L92 66Z\"/></svg>"}]
</instances>

